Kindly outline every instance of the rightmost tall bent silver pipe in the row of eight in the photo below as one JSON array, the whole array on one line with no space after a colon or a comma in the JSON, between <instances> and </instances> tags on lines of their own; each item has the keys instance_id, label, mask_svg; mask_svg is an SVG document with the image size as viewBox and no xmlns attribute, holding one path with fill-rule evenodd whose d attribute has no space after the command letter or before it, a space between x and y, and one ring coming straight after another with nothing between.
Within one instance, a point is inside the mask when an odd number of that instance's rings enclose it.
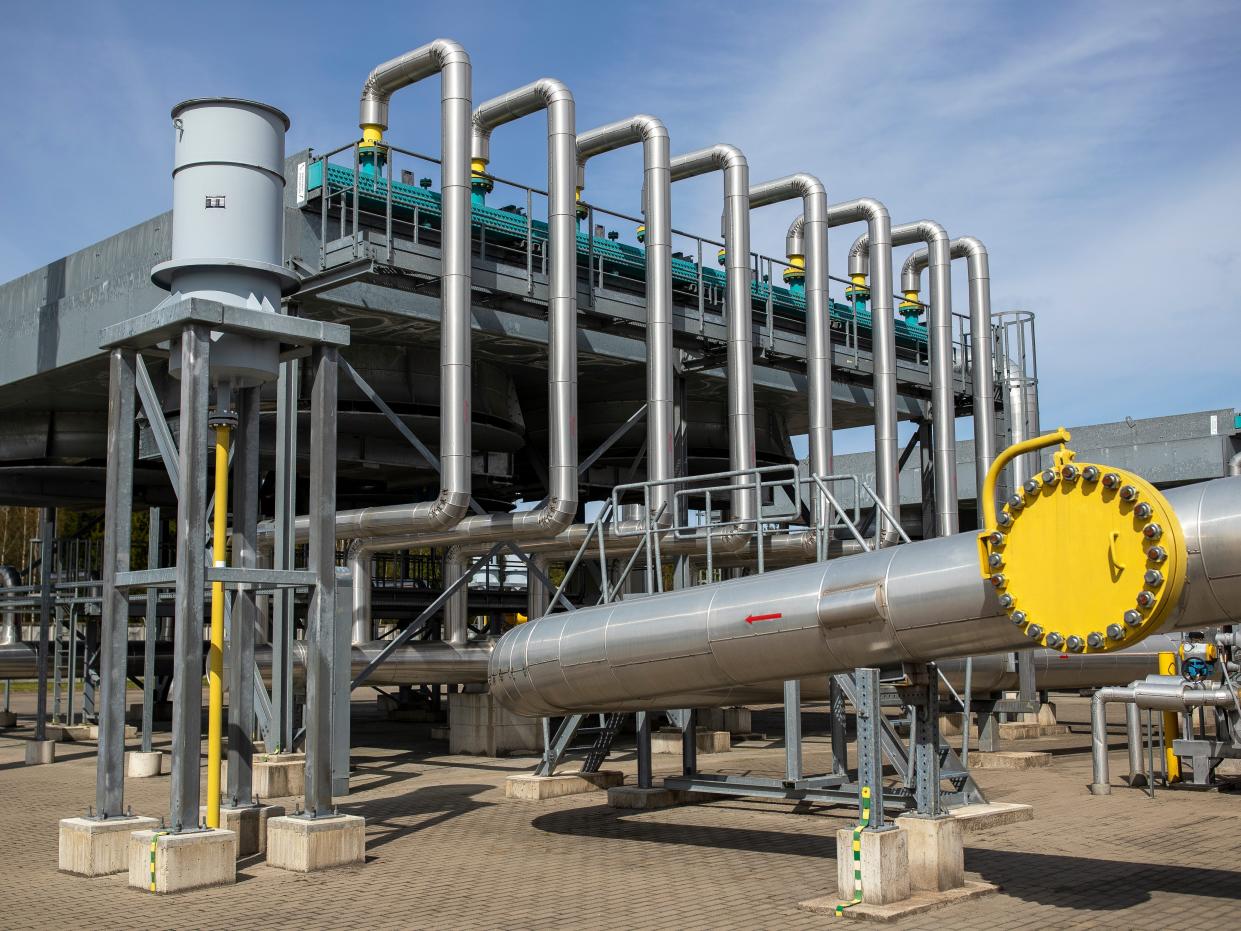
<instances>
[{"instance_id":1,"label":"rightmost tall bent silver pipe in the row of eight","mask_svg":"<svg viewBox=\"0 0 1241 931\"><path fill-rule=\"evenodd\" d=\"M987 247L973 236L962 236L948 243L951 258L964 258L969 274L969 350L970 380L974 384L974 472L983 487L987 469L995 459L995 362L992 358L992 278ZM931 261L931 252L911 252L901 268L901 290L922 289L922 269ZM1014 441L1018 442L1018 441Z\"/></svg>"}]
</instances>

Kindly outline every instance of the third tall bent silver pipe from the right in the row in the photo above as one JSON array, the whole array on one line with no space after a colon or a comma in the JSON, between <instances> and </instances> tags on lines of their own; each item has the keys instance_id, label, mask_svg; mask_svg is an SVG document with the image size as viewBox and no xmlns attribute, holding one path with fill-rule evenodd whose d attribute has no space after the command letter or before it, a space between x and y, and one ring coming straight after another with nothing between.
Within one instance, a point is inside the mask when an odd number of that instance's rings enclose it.
<instances>
[{"instance_id":1,"label":"third tall bent silver pipe from the right in the row","mask_svg":"<svg viewBox=\"0 0 1241 931\"><path fill-rule=\"evenodd\" d=\"M896 436L896 319L892 314L892 292L887 284L892 277L892 221L887 207L874 197L858 197L828 206L828 228L862 221L866 223L870 243L869 264L874 266L871 281L882 282L882 287L870 289L871 366L875 389L875 485L884 506L892 514L898 514L901 485ZM789 256L804 254L804 225L803 215L788 227L784 246ZM864 284L866 272L854 272L853 264L854 259L850 256L850 274L856 276L855 284ZM892 546L900 539L891 521L881 516L880 545Z\"/></svg>"}]
</instances>

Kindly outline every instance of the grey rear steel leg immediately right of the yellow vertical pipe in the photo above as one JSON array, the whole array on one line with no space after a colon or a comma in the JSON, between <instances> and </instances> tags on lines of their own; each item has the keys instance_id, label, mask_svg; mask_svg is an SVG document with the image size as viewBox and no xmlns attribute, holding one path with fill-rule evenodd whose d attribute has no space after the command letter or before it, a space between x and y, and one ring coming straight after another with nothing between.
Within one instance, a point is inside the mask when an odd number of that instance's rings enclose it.
<instances>
[{"instance_id":1,"label":"grey rear steel leg immediately right of the yellow vertical pipe","mask_svg":"<svg viewBox=\"0 0 1241 931\"><path fill-rule=\"evenodd\" d=\"M233 433L232 560L238 569L256 569L258 555L258 451L261 448L259 390L237 392L237 430ZM217 501L216 506L223 506ZM225 803L244 808L254 803L254 590L238 586L233 593L228 638L228 786Z\"/></svg>"}]
</instances>

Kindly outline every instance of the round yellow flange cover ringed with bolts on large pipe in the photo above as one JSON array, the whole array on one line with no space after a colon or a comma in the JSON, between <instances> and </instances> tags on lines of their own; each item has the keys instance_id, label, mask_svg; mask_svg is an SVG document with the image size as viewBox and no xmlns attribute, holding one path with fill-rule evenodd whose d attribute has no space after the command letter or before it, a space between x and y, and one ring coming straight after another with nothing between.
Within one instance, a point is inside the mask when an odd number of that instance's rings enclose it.
<instances>
[{"instance_id":1,"label":"round yellow flange cover ringed with bolts on large pipe","mask_svg":"<svg viewBox=\"0 0 1241 931\"><path fill-rule=\"evenodd\" d=\"M982 535L983 575L1040 645L1132 647L1159 629L1185 583L1180 521L1140 475L1076 462L1064 446L1054 458Z\"/></svg>"}]
</instances>

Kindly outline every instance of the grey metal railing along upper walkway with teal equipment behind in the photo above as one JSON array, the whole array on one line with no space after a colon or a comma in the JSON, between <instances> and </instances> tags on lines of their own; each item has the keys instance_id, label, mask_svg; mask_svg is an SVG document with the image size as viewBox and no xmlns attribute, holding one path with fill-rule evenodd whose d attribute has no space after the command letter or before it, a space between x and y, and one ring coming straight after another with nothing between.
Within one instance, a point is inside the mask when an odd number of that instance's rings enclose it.
<instances>
[{"instance_id":1,"label":"grey metal railing along upper walkway with teal equipment behind","mask_svg":"<svg viewBox=\"0 0 1241 931\"><path fill-rule=\"evenodd\" d=\"M305 164L305 184L299 180L299 205L315 202L319 210L319 269L364 256L370 242L377 258L396 264L406 245L438 247L441 226L439 160L417 151L386 145L383 158L364 154L354 143L311 154ZM299 169L300 171L302 169ZM474 250L483 261L504 262L524 269L525 290L547 279L547 195L539 187L489 176L491 190L475 190L472 222ZM483 204L483 199L489 204ZM493 204L504 206L494 207ZM638 294L645 281L645 256L638 228L642 217L583 204L585 230L577 235L578 266L588 282L587 307L601 298ZM707 326L725 313L725 272L719 266L724 243L681 230L673 231L673 293L690 324L706 338ZM805 299L799 288L783 287L791 266L779 258L751 252L751 305L761 353L776 350L782 331L804 334ZM849 282L831 277L831 282ZM871 351L870 312L865 302L830 302L831 341L853 354ZM897 359L926 365L926 329L896 320ZM968 318L954 323L954 354L968 353ZM957 366L964 372L964 366ZM962 377L965 377L962 375Z\"/></svg>"}]
</instances>

